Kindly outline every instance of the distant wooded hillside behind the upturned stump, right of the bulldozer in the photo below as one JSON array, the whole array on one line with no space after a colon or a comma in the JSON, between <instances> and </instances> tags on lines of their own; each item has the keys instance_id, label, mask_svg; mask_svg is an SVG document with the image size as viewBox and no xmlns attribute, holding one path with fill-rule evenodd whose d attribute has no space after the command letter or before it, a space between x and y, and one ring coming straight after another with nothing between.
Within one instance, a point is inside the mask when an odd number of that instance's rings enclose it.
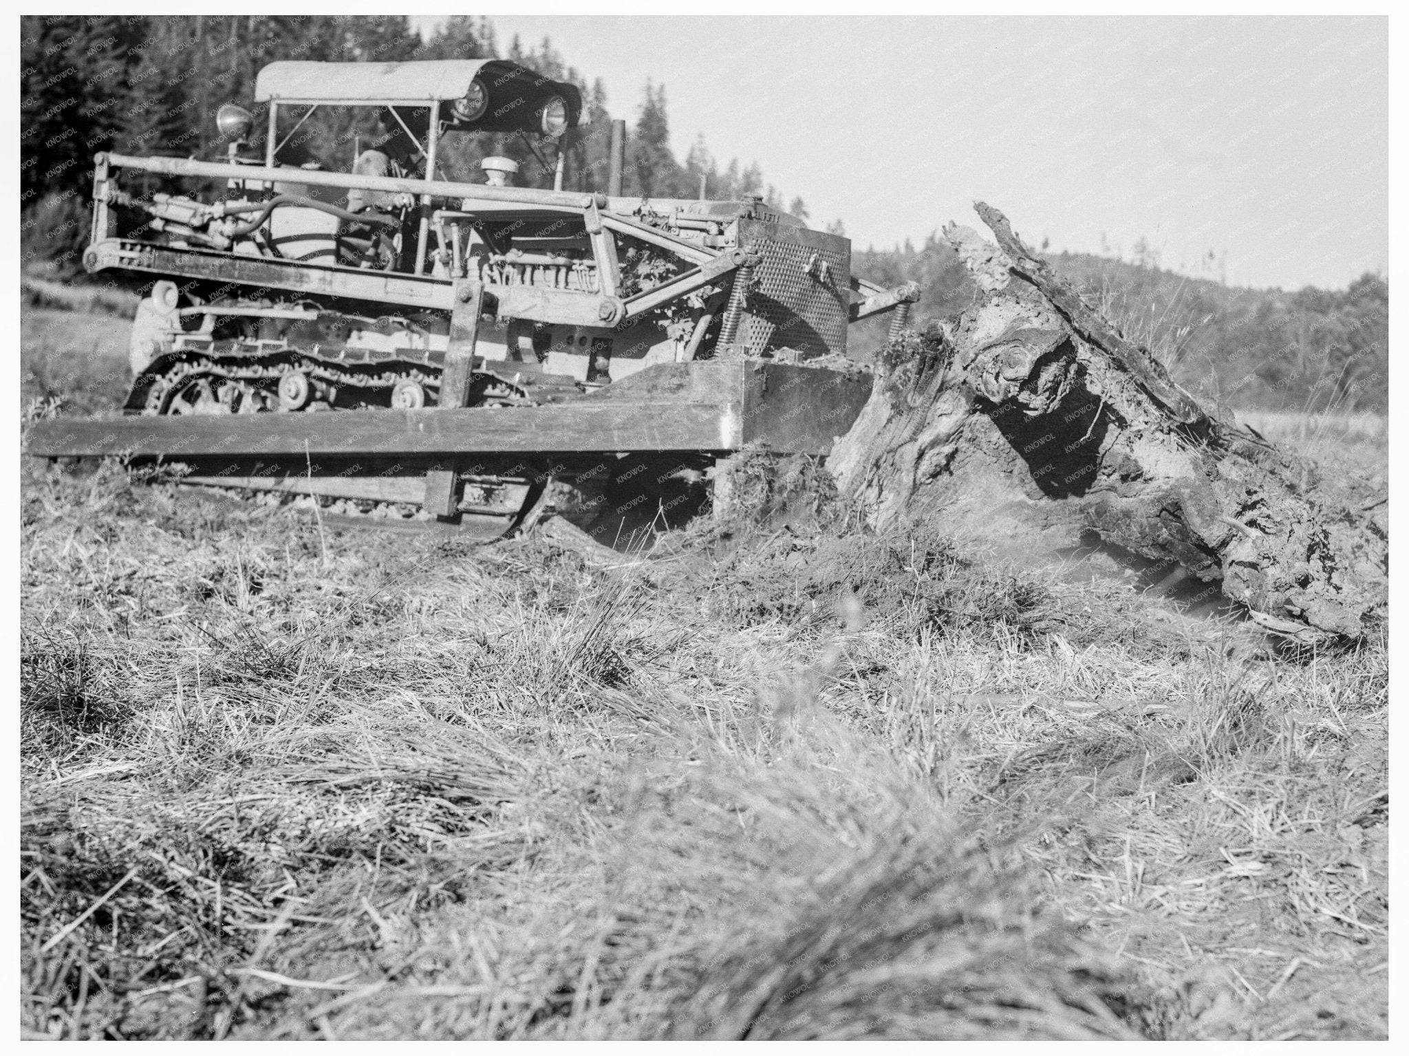
<instances>
[{"instance_id":1,"label":"distant wooded hillside behind the upturned stump, right of the bulldozer","mask_svg":"<svg viewBox=\"0 0 1409 1056\"><path fill-rule=\"evenodd\" d=\"M1212 403L1264 410L1384 411L1389 394L1389 283L1364 275L1344 290L1295 293L1223 286L1089 253L1053 253L1053 268L1130 337ZM936 235L923 248L858 252L854 270L923 289L914 320L968 306L976 287ZM885 338L874 322L854 353Z\"/></svg>"}]
</instances>

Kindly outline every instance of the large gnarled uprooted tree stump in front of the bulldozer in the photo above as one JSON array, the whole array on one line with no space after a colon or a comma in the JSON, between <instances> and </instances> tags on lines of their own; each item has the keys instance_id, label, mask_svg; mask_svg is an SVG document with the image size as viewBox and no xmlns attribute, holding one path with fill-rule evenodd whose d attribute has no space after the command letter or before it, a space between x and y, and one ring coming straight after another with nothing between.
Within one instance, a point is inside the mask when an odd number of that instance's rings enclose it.
<instances>
[{"instance_id":1,"label":"large gnarled uprooted tree stump in front of the bulldozer","mask_svg":"<svg viewBox=\"0 0 1409 1056\"><path fill-rule=\"evenodd\" d=\"M1013 234L945 238L983 300L907 334L828 469L874 525L991 522L1178 562L1301 643L1382 618L1388 535L1315 484L1306 460L1224 421Z\"/></svg>"}]
</instances>

